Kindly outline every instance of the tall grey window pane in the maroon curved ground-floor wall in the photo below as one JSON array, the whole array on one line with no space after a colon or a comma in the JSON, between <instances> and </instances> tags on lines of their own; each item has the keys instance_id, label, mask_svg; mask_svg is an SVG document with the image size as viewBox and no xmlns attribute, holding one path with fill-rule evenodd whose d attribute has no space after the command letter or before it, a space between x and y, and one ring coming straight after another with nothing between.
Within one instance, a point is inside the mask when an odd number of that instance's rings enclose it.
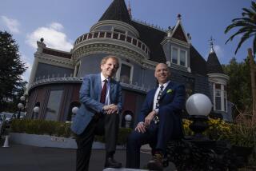
<instances>
[{"instance_id":1,"label":"tall grey window pane in the maroon curved ground-floor wall","mask_svg":"<svg viewBox=\"0 0 256 171\"><path fill-rule=\"evenodd\" d=\"M57 121L63 90L51 90L46 108L46 120Z\"/></svg>"}]
</instances>

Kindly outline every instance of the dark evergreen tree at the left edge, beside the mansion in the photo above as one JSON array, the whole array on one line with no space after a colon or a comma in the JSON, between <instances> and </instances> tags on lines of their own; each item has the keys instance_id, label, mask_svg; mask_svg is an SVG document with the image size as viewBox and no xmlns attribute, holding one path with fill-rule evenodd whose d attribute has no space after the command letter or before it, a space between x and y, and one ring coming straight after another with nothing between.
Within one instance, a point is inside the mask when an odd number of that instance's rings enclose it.
<instances>
[{"instance_id":1,"label":"dark evergreen tree at the left edge, beside the mansion","mask_svg":"<svg viewBox=\"0 0 256 171\"><path fill-rule=\"evenodd\" d=\"M0 111L8 108L24 91L26 82L22 81L21 75L25 71L17 43L11 34L0 30Z\"/></svg>"}]
</instances>

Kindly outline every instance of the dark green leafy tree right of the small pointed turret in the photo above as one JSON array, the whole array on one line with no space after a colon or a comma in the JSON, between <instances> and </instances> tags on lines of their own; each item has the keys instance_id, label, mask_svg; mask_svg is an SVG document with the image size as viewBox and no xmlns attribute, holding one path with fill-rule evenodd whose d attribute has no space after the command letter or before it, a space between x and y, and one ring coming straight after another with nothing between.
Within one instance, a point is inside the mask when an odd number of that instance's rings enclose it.
<instances>
[{"instance_id":1,"label":"dark green leafy tree right of the small pointed turret","mask_svg":"<svg viewBox=\"0 0 256 171\"><path fill-rule=\"evenodd\" d=\"M237 62L235 58L230 60L228 65L222 65L224 73L230 77L227 85L229 101L234 103L239 110L252 108L252 96L250 89L250 64L249 58L244 62ZM238 113L235 113L238 114Z\"/></svg>"}]
</instances>

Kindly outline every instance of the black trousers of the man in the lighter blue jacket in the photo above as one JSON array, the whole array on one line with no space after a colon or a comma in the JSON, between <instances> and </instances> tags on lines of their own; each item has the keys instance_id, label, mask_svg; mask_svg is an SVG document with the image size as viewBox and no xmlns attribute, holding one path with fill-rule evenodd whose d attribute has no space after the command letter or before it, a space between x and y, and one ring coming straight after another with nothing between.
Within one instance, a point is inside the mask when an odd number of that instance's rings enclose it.
<instances>
[{"instance_id":1,"label":"black trousers of the man in the lighter blue jacket","mask_svg":"<svg viewBox=\"0 0 256 171\"><path fill-rule=\"evenodd\" d=\"M93 118L86 129L77 136L77 171L88 171L94 135L104 135L106 141L106 153L114 154L118 137L118 114L102 115L98 119Z\"/></svg>"}]
</instances>

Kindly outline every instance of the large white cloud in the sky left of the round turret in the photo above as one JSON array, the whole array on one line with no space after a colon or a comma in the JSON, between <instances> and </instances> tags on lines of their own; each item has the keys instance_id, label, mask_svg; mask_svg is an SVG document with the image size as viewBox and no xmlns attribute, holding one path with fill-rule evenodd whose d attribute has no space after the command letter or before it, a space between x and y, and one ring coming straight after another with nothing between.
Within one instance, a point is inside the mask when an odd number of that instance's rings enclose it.
<instances>
[{"instance_id":1,"label":"large white cloud in the sky left of the round turret","mask_svg":"<svg viewBox=\"0 0 256 171\"><path fill-rule=\"evenodd\" d=\"M44 38L47 47L57 50L70 51L73 48L72 42L67 40L66 34L62 32L63 26L58 22L53 22L48 27L39 27L31 34L27 35L26 43L37 48L37 41Z\"/></svg>"}]
</instances>

